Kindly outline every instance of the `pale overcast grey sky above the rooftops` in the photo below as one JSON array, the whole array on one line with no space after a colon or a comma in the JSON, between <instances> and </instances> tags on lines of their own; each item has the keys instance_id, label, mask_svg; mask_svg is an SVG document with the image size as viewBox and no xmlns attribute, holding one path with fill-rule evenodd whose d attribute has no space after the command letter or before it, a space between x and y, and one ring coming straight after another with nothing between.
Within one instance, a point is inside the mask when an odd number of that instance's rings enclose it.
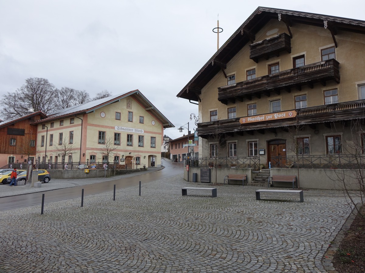
<instances>
[{"instance_id":1,"label":"pale overcast grey sky above the rooftops","mask_svg":"<svg viewBox=\"0 0 365 273\"><path fill-rule=\"evenodd\" d=\"M91 96L139 89L181 137L198 108L176 95L216 52L218 13L221 46L258 6L365 20L360 0L0 0L0 98L30 77Z\"/></svg>"}]
</instances>

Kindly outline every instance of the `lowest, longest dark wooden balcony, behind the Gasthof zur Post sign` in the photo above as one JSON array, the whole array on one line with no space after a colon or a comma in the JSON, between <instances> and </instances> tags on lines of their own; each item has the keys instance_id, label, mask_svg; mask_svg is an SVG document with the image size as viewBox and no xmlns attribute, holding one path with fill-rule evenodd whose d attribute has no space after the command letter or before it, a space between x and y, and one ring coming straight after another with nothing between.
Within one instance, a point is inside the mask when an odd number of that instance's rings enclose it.
<instances>
[{"instance_id":1,"label":"lowest, longest dark wooden balcony, behind the Gasthof zur Post sign","mask_svg":"<svg viewBox=\"0 0 365 273\"><path fill-rule=\"evenodd\" d=\"M297 109L296 118L278 119L262 122L252 122L241 124L240 118L223 119L215 122L198 123L198 135L207 138L209 135L216 134L249 134L254 131L265 134L265 130L274 131L277 127L288 127L299 124L315 124L339 122L350 119L364 119L365 100L343 102L335 104L320 105ZM246 117L242 117L246 118ZM310 125L311 126L311 125Z\"/></svg>"}]
</instances>

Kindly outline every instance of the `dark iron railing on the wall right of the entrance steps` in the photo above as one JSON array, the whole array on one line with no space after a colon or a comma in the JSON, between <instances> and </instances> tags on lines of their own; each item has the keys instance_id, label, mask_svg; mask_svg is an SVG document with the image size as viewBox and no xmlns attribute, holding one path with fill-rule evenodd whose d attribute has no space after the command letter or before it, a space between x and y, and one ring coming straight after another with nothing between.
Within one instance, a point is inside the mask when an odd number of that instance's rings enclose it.
<instances>
[{"instance_id":1,"label":"dark iron railing on the wall right of the entrance steps","mask_svg":"<svg viewBox=\"0 0 365 273\"><path fill-rule=\"evenodd\" d=\"M365 154L293 155L271 160L272 168L365 169Z\"/></svg>"}]
</instances>

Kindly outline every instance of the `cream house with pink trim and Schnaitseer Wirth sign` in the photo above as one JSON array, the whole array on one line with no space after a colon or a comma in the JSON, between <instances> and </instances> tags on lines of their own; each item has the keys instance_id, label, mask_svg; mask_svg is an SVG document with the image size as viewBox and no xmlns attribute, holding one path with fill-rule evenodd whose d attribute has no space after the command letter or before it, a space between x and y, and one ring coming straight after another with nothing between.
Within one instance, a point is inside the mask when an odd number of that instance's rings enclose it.
<instances>
[{"instance_id":1,"label":"cream house with pink trim and Schnaitseer Wirth sign","mask_svg":"<svg viewBox=\"0 0 365 273\"><path fill-rule=\"evenodd\" d=\"M160 166L164 128L174 127L139 90L62 109L34 124L38 162L58 169L79 162Z\"/></svg>"}]
</instances>

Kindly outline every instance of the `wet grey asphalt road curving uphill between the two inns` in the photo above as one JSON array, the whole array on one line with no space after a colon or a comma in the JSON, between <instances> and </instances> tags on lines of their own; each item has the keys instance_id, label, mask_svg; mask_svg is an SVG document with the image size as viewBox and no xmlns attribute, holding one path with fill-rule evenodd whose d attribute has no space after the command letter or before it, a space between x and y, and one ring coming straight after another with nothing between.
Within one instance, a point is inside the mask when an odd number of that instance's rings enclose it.
<instances>
[{"instance_id":1,"label":"wet grey asphalt road curving uphill between the two inns","mask_svg":"<svg viewBox=\"0 0 365 273\"><path fill-rule=\"evenodd\" d=\"M138 186L139 181L142 184L157 181L163 178L168 178L183 172L183 164L164 161L164 169L135 175L132 177L116 176L115 180L97 182L89 185L68 187L64 189L51 190L46 192L36 192L31 194L22 194L16 196L0 198L0 211L16 209L19 207L27 207L39 205L42 203L42 194L45 194L45 203L51 203L60 200L80 198L81 191L84 189L84 197L92 194L103 193L110 191L113 195L114 185L116 189L123 189L131 186ZM102 178L101 178L102 179ZM52 183L52 180L49 182ZM138 189L137 189L138 191Z\"/></svg>"}]
</instances>

